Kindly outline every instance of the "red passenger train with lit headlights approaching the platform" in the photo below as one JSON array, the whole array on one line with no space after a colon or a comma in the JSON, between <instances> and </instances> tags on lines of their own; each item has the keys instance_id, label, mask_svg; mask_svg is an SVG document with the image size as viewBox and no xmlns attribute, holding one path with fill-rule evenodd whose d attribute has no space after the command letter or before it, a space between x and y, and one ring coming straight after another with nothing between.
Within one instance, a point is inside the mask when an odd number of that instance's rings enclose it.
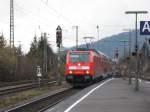
<instances>
[{"instance_id":1,"label":"red passenger train with lit headlights approaching the platform","mask_svg":"<svg viewBox=\"0 0 150 112\"><path fill-rule=\"evenodd\" d=\"M111 61L102 52L93 49L67 52L65 78L73 86L93 83L111 75Z\"/></svg>"}]
</instances>

